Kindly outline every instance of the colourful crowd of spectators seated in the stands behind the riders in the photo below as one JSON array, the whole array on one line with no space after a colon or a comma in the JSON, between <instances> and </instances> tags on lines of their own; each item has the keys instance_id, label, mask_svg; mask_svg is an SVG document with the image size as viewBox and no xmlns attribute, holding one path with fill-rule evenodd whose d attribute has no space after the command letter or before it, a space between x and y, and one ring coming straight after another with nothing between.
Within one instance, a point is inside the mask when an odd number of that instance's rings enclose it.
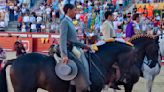
<instances>
[{"instance_id":1,"label":"colourful crowd of spectators seated in the stands behind the riders","mask_svg":"<svg viewBox=\"0 0 164 92\"><path fill-rule=\"evenodd\" d=\"M9 7L10 21L18 21L19 32L51 32L59 33L60 21L64 18L63 6L69 0L43 0L39 7L31 10L28 5L15 2ZM140 16L139 27L143 33L153 33L164 29L164 19L161 12L151 4L144 7L134 7L132 12L126 12L129 4L136 0L70 0L76 6L77 15L73 23L77 32L100 34L100 27L104 22L105 11L114 15L114 30L118 37L125 37L128 23L133 21L132 15ZM162 0L140 0L140 2L161 2Z\"/></svg>"}]
</instances>

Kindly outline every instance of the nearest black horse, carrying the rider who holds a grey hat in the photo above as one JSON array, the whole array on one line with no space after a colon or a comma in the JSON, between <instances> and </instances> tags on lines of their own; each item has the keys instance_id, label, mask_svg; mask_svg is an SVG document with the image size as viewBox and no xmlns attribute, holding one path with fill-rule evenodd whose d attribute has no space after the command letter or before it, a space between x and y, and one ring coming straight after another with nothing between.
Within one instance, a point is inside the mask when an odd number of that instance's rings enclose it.
<instances>
[{"instance_id":1,"label":"nearest black horse, carrying the rider who holds a grey hat","mask_svg":"<svg viewBox=\"0 0 164 92\"><path fill-rule=\"evenodd\" d=\"M122 42L107 42L98 46L98 51L89 53L91 92L101 92L108 82L110 67L117 62L121 73L125 74L135 63L135 50ZM11 66L11 81L14 92L36 92L38 88L49 92L68 92L70 81L63 81L55 74L56 61L51 56L30 53L18 57L14 62L7 63L0 72L0 92L7 92L6 67ZM136 80L138 81L138 79ZM125 89L129 90L129 89Z\"/></svg>"}]
</instances>

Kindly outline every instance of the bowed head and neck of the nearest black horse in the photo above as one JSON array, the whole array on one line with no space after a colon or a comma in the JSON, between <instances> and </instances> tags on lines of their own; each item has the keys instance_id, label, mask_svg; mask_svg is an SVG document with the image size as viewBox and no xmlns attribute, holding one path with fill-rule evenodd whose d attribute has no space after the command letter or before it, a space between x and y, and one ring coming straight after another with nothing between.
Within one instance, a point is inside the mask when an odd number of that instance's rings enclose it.
<instances>
[{"instance_id":1,"label":"bowed head and neck of the nearest black horse","mask_svg":"<svg viewBox=\"0 0 164 92\"><path fill-rule=\"evenodd\" d=\"M98 49L95 54L100 57L101 61L99 61L103 63L104 67L109 70L114 63L117 63L124 76L128 75L137 60L135 48L123 42L108 42L98 46ZM136 81L138 81L137 78Z\"/></svg>"}]
</instances>

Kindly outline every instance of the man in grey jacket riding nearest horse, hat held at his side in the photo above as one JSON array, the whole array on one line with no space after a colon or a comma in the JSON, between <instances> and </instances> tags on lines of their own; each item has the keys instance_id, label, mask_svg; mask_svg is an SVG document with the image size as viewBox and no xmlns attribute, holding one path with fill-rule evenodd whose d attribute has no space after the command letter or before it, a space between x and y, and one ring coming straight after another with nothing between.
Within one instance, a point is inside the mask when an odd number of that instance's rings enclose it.
<instances>
[{"instance_id":1,"label":"man in grey jacket riding nearest horse, hat held at his side","mask_svg":"<svg viewBox=\"0 0 164 92\"><path fill-rule=\"evenodd\" d=\"M68 63L68 59L72 59L78 66L79 72L77 77L71 81L76 86L76 92L90 90L91 81L89 79L89 66L84 55L80 58L72 52L74 46L77 50L84 54L79 48L90 49L90 46L83 44L77 40L76 28L73 25L72 19L76 15L75 6L66 4L63 8L65 18L60 24L60 51L63 63Z\"/></svg>"}]
</instances>

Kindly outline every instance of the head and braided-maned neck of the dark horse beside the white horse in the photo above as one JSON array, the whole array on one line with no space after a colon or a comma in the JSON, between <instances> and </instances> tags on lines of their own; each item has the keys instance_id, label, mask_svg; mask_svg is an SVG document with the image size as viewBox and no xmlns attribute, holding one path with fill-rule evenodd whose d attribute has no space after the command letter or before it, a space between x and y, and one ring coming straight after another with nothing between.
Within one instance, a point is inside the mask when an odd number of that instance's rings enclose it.
<instances>
[{"instance_id":1,"label":"head and braided-maned neck of the dark horse beside the white horse","mask_svg":"<svg viewBox=\"0 0 164 92\"><path fill-rule=\"evenodd\" d=\"M146 57L149 67L159 62L159 37L153 35L135 35L129 40L138 50L138 66L141 68ZM144 62L145 63L145 62Z\"/></svg>"}]
</instances>

